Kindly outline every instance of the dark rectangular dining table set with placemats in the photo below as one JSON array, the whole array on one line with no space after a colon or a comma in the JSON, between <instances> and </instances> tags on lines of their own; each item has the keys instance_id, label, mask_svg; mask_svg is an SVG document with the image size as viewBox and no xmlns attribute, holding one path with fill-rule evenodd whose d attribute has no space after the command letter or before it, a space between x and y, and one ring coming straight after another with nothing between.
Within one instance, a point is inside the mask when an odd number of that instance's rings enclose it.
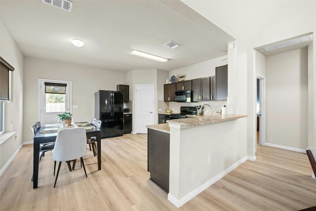
<instances>
[{"instance_id":1,"label":"dark rectangular dining table set with placemats","mask_svg":"<svg viewBox=\"0 0 316 211\"><path fill-rule=\"evenodd\" d=\"M80 122L79 124L87 123ZM75 123L76 124L76 123ZM40 144L54 142L57 137L57 129L62 125L52 124L52 125L43 125L40 127L40 130L35 134L34 140L34 154L33 154L33 188L38 187L39 179L39 158L40 158ZM88 124L84 127L91 127L92 125ZM79 126L80 127L80 126ZM43 132L46 131L46 132ZM92 129L86 129L87 137L95 136L97 138L97 157L98 157L98 169L101 170L101 130L97 127Z\"/></svg>"}]
</instances>

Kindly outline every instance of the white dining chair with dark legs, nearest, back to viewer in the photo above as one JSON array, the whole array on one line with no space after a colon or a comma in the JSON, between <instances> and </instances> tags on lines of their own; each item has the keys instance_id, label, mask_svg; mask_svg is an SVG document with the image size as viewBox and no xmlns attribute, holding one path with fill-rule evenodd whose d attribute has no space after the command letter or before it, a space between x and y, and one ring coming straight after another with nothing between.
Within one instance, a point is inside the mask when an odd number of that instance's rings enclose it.
<instances>
[{"instance_id":1,"label":"white dining chair with dark legs, nearest, back to viewer","mask_svg":"<svg viewBox=\"0 0 316 211\"><path fill-rule=\"evenodd\" d=\"M84 127L72 127L66 129L60 129L57 132L55 147L53 149L53 160L59 162L58 170L56 174L55 184L56 186L59 170L63 161L74 161L80 158L81 165L83 166L85 177L87 173L85 171L82 157L86 153L86 132ZM55 168L54 168L55 175Z\"/></svg>"}]
</instances>

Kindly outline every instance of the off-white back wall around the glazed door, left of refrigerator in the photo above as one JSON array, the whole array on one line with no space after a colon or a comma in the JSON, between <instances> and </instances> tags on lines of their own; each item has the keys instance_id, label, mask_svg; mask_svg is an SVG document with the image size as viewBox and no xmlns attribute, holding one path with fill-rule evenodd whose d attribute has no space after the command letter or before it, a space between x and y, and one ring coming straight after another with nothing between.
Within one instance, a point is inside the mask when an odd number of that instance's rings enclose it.
<instances>
[{"instance_id":1,"label":"off-white back wall around the glazed door, left of refrigerator","mask_svg":"<svg viewBox=\"0 0 316 211\"><path fill-rule=\"evenodd\" d=\"M76 122L94 117L94 92L117 90L117 84L126 84L126 73L87 67L83 65L26 57L24 59L24 141L32 141L31 125L38 118L38 80L52 79L72 82L72 109ZM71 106L72 107L72 106Z\"/></svg>"}]
</instances>

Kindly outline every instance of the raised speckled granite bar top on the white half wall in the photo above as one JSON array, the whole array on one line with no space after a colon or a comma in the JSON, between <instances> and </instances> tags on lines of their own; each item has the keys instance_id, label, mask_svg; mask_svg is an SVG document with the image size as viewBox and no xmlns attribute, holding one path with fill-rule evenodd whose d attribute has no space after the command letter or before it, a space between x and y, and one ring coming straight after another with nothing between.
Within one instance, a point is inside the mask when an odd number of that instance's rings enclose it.
<instances>
[{"instance_id":1,"label":"raised speckled granite bar top on the white half wall","mask_svg":"<svg viewBox=\"0 0 316 211\"><path fill-rule=\"evenodd\" d=\"M200 126L206 124L213 124L213 123L221 123L236 120L238 118L247 117L247 115L238 115L238 114L224 114L224 115L206 115L206 116L196 116L184 119L175 119L175 120L167 120L167 123L173 123L176 125L182 126Z\"/></svg>"}]
</instances>

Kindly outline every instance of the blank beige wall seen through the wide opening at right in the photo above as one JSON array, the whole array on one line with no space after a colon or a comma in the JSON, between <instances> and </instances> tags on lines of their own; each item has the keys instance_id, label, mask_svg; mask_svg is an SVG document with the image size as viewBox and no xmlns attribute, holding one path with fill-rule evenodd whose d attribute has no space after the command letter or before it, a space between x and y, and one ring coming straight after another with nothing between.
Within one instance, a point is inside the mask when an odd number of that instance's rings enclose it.
<instances>
[{"instance_id":1,"label":"blank beige wall seen through the wide opening at right","mask_svg":"<svg viewBox=\"0 0 316 211\"><path fill-rule=\"evenodd\" d=\"M308 49L266 58L266 144L308 147Z\"/></svg>"}]
</instances>

